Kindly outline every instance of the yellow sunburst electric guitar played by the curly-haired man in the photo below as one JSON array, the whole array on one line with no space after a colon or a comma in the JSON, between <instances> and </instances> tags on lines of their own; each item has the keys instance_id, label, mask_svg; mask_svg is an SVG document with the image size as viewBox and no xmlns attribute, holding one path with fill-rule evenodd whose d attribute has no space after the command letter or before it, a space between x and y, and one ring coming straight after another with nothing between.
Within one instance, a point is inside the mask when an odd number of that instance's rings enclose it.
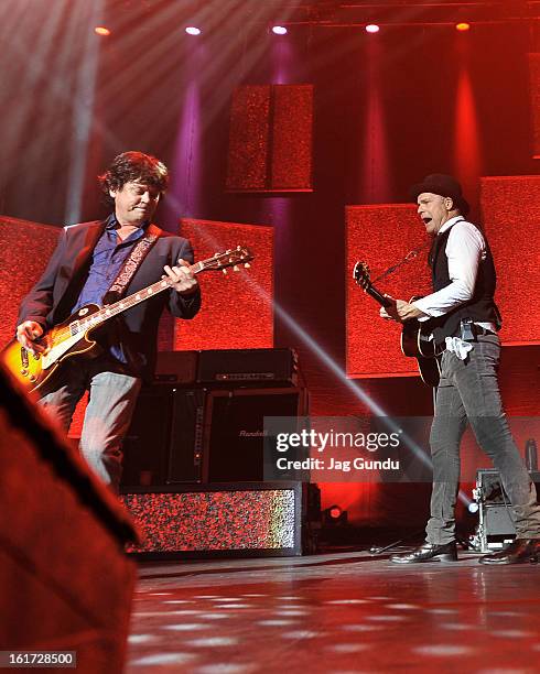
<instances>
[{"instance_id":1,"label":"yellow sunburst electric guitar played by the curly-haired man","mask_svg":"<svg viewBox=\"0 0 540 674\"><path fill-rule=\"evenodd\" d=\"M226 272L229 267L238 271L238 265L249 267L252 259L253 256L249 249L238 246L233 250L216 253L202 262L195 262L190 265L190 270L194 274L203 271ZM40 337L39 344L45 347L42 354L33 354L19 341L13 340L2 351L0 360L28 391L44 389L45 384L48 387L65 360L77 357L91 358L100 352L99 346L91 338L93 330L136 304L169 290L173 283L169 276L164 276L114 304L104 307L87 304Z\"/></svg>"}]
</instances>

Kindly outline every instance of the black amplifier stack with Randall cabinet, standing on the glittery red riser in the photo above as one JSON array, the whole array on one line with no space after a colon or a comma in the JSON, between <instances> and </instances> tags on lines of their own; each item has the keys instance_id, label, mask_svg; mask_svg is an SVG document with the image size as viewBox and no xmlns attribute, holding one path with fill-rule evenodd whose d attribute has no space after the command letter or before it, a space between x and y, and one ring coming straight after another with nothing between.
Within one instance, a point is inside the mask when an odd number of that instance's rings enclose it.
<instances>
[{"instance_id":1,"label":"black amplifier stack with Randall cabinet, standing on the glittery red riser","mask_svg":"<svg viewBox=\"0 0 540 674\"><path fill-rule=\"evenodd\" d=\"M125 439L122 487L262 481L264 416L309 413L293 349L166 351Z\"/></svg>"}]
</instances>

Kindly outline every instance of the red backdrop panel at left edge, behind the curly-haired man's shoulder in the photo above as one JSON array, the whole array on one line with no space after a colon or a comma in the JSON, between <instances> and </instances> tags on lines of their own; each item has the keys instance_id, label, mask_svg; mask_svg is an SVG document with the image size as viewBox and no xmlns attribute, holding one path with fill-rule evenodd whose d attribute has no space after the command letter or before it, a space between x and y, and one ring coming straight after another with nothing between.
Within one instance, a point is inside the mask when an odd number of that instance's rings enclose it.
<instances>
[{"instance_id":1,"label":"red backdrop panel at left edge, behind the curly-haired man's shoulder","mask_svg":"<svg viewBox=\"0 0 540 674\"><path fill-rule=\"evenodd\" d=\"M21 300L43 273L60 231L0 216L0 348L13 339Z\"/></svg>"}]
</instances>

